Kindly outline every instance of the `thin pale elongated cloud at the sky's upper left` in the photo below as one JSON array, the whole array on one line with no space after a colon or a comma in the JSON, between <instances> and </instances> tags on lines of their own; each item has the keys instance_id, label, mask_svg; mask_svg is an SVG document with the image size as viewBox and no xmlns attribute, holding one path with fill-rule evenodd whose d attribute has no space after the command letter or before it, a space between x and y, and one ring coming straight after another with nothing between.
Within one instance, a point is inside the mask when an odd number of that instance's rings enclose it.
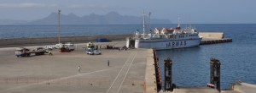
<instances>
[{"instance_id":1,"label":"thin pale elongated cloud at the sky's upper left","mask_svg":"<svg viewBox=\"0 0 256 93\"><path fill-rule=\"evenodd\" d=\"M0 3L0 8L44 8L55 7L54 4L47 5L43 3Z\"/></svg>"}]
</instances>

